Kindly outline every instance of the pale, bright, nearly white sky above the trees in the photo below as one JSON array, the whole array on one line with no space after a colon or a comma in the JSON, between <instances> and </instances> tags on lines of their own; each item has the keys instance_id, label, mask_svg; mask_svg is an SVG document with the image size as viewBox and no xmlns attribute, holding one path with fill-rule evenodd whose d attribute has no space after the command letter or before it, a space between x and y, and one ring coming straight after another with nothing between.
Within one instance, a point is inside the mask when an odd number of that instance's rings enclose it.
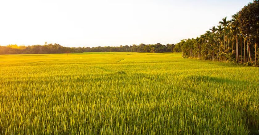
<instances>
[{"instance_id":1,"label":"pale, bright, nearly white sky above the trees","mask_svg":"<svg viewBox=\"0 0 259 135\"><path fill-rule=\"evenodd\" d=\"M0 45L176 44L252 0L1 0Z\"/></svg>"}]
</instances>

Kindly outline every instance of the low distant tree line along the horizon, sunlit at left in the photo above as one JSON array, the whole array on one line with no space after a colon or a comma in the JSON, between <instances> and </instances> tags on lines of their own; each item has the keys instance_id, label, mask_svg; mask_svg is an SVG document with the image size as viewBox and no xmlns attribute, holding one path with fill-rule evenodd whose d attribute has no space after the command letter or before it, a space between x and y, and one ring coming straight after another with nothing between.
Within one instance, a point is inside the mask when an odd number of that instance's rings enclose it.
<instances>
[{"instance_id":1,"label":"low distant tree line along the horizon, sunlit at left","mask_svg":"<svg viewBox=\"0 0 259 135\"><path fill-rule=\"evenodd\" d=\"M140 44L125 46L105 46L105 47L63 47L60 44L18 46L10 44L0 46L0 54L43 54L43 53L83 53L83 52L181 52L181 49L174 44Z\"/></svg>"}]
</instances>

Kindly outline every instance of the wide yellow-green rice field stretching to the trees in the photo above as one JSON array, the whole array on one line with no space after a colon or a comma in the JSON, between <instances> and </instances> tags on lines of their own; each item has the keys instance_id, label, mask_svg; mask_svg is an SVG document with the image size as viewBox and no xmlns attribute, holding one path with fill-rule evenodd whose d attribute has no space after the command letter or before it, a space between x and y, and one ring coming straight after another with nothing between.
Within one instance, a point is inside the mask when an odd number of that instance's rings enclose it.
<instances>
[{"instance_id":1,"label":"wide yellow-green rice field stretching to the trees","mask_svg":"<svg viewBox=\"0 0 259 135\"><path fill-rule=\"evenodd\" d=\"M180 53L0 55L0 134L258 133L258 67Z\"/></svg>"}]
</instances>

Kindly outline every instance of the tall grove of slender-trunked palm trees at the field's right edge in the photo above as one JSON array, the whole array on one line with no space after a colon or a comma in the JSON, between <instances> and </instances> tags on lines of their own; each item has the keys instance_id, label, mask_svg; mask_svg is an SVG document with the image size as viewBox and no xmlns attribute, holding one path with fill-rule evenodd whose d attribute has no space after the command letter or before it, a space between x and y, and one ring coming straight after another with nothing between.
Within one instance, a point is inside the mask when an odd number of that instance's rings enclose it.
<instances>
[{"instance_id":1,"label":"tall grove of slender-trunked palm trees at the field's right edge","mask_svg":"<svg viewBox=\"0 0 259 135\"><path fill-rule=\"evenodd\" d=\"M258 17L258 0L254 0L231 20L224 17L217 27L195 39L181 40L175 47L181 48L184 57L257 64Z\"/></svg>"}]
</instances>

